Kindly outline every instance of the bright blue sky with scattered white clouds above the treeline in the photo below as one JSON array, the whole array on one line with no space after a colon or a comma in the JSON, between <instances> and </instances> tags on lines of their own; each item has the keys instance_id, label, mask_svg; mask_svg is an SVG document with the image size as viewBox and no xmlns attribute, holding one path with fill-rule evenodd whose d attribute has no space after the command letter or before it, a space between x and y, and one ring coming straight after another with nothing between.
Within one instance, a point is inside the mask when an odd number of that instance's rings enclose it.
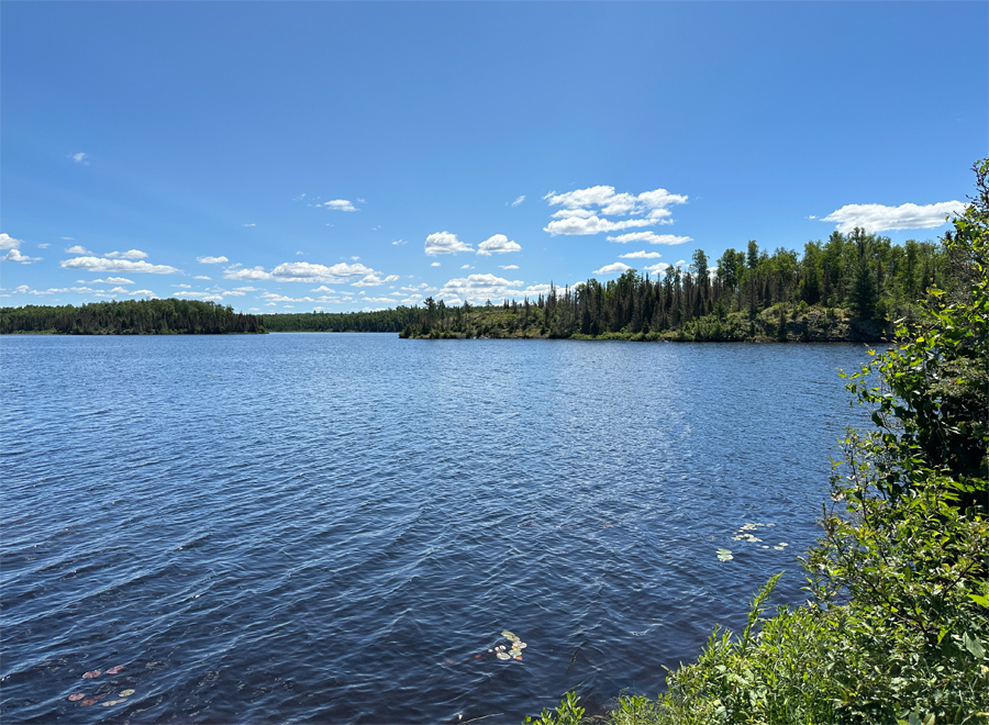
<instances>
[{"instance_id":1,"label":"bright blue sky with scattered white clouds above the treeline","mask_svg":"<svg viewBox=\"0 0 989 725\"><path fill-rule=\"evenodd\" d=\"M534 298L860 226L989 156L989 3L16 2L0 306Z\"/></svg>"}]
</instances>

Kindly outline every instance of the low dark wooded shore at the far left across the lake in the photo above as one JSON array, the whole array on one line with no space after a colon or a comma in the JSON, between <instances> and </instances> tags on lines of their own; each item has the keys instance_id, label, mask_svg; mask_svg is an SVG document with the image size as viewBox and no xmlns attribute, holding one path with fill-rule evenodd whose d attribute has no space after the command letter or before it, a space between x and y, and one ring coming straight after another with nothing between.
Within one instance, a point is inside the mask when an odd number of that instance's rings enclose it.
<instances>
[{"instance_id":1,"label":"low dark wooded shore at the far left across the lake","mask_svg":"<svg viewBox=\"0 0 989 725\"><path fill-rule=\"evenodd\" d=\"M260 317L198 300L124 300L80 306L0 309L0 333L65 335L215 335L264 333Z\"/></svg>"}]
</instances>

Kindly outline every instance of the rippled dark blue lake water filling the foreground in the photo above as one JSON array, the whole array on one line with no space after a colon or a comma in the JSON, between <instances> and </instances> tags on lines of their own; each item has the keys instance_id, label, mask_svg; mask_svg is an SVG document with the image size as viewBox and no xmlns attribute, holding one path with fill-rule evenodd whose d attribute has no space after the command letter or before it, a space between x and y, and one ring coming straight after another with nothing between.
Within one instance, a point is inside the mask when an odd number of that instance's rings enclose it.
<instances>
[{"instance_id":1,"label":"rippled dark blue lake water filling the foreground","mask_svg":"<svg viewBox=\"0 0 989 725\"><path fill-rule=\"evenodd\" d=\"M866 359L5 336L0 716L490 725L655 695L771 573L802 601L830 456L866 425L836 369ZM489 652L504 629L521 661Z\"/></svg>"}]
</instances>

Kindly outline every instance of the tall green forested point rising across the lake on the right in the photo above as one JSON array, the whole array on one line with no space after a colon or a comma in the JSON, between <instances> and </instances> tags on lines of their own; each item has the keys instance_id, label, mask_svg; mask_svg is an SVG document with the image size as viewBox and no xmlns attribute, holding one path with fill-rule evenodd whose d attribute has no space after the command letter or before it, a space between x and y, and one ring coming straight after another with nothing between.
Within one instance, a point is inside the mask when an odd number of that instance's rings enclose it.
<instances>
[{"instance_id":1,"label":"tall green forested point rising across the lake on the right","mask_svg":"<svg viewBox=\"0 0 989 725\"><path fill-rule=\"evenodd\" d=\"M603 285L589 279L573 289L551 287L535 300L486 308L447 306L430 298L423 309L416 308L419 314L402 336L520 336L520 331L535 331L549 337L747 339L766 335L767 315L760 313L771 308L778 322L769 325L770 332L779 338L786 338L792 320L803 323L804 339L831 339L813 334L815 320L826 326L846 316L836 315L844 310L860 321L910 317L929 287L949 281L940 243L908 241L900 246L862 230L809 242L802 255L782 247L770 255L752 241L744 252L726 249L715 264L711 267L698 249L687 269L668 267L662 278L632 269ZM812 309L820 314L809 320ZM480 311L497 311L497 323L491 314L478 315Z\"/></svg>"}]
</instances>

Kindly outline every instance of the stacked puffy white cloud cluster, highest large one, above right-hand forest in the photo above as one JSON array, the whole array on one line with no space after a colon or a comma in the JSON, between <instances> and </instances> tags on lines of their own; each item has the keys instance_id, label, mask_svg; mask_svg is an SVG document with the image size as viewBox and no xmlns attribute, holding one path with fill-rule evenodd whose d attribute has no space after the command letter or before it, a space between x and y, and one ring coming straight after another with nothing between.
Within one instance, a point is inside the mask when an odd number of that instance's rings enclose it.
<instances>
[{"instance_id":1,"label":"stacked puffy white cloud cluster, highest large one, above right-hand forest","mask_svg":"<svg viewBox=\"0 0 989 725\"><path fill-rule=\"evenodd\" d=\"M551 207L560 207L552 216L554 221L544 227L545 232L584 235L615 232L634 226L671 224L669 207L687 203L687 197L670 193L666 189L644 191L640 194L615 193L614 187L588 187L565 193L551 191L544 200ZM599 216L600 214L600 216ZM632 216L618 222L605 216Z\"/></svg>"}]
</instances>

